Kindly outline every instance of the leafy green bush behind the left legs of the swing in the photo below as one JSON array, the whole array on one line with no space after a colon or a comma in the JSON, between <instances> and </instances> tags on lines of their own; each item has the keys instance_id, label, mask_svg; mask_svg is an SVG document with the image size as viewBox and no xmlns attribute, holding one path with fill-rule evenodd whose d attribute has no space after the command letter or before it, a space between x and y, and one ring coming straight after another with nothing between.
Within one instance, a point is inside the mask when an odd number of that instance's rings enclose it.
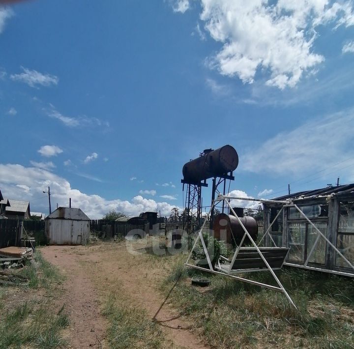
<instances>
[{"instance_id":1,"label":"leafy green bush behind the left legs of the swing","mask_svg":"<svg viewBox=\"0 0 354 349\"><path fill-rule=\"evenodd\" d=\"M218 261L220 255L224 257L230 256L230 251L226 248L226 245L223 241L215 239L214 236L210 236L208 233L203 233L203 239L206 244L208 255L213 267ZM203 245L200 240L193 250L192 259L197 261L196 264L199 266L208 266L207 256L204 253Z\"/></svg>"}]
</instances>

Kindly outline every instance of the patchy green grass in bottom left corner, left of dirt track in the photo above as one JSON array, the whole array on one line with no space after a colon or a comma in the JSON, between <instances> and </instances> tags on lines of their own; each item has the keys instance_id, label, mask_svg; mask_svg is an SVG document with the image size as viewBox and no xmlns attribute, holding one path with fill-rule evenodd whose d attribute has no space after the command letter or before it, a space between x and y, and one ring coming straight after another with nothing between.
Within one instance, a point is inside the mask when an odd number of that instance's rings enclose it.
<instances>
[{"instance_id":1,"label":"patchy green grass in bottom left corner, left of dirt track","mask_svg":"<svg viewBox=\"0 0 354 349\"><path fill-rule=\"evenodd\" d=\"M18 291L14 293L12 286L0 288L0 349L28 348L29 345L40 349L64 348L68 344L62 338L62 330L67 327L69 318L64 307L53 314L50 297L62 282L62 276L42 258L40 251L35 252L34 260L34 264L14 271L18 276ZM28 279L25 285L23 278ZM46 291L46 297L40 301L20 301L15 306L9 303L15 303L19 294L26 299L30 289L41 288Z\"/></svg>"}]
</instances>

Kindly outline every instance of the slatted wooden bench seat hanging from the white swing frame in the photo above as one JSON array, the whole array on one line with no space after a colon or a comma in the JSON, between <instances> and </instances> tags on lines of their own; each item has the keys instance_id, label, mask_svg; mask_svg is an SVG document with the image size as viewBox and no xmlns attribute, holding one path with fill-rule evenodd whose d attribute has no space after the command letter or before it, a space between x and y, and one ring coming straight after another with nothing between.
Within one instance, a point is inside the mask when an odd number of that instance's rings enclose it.
<instances>
[{"instance_id":1,"label":"slatted wooden bench seat hanging from the white swing frame","mask_svg":"<svg viewBox=\"0 0 354 349\"><path fill-rule=\"evenodd\" d=\"M273 270L281 269L290 250L288 247L259 247L259 249ZM231 262L230 259L220 256L215 269L228 273ZM241 247L231 268L231 272L243 273L261 270L268 270L268 268L256 248Z\"/></svg>"}]
</instances>

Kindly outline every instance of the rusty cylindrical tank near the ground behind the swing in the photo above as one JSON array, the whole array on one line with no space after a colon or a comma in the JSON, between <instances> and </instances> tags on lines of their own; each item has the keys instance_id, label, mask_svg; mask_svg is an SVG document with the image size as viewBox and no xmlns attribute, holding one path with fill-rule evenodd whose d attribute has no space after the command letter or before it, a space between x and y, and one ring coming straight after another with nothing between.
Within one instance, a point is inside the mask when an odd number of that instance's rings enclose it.
<instances>
[{"instance_id":1,"label":"rusty cylindrical tank near the ground behind the swing","mask_svg":"<svg viewBox=\"0 0 354 349\"><path fill-rule=\"evenodd\" d=\"M236 212L237 214L237 212ZM237 214L238 216L238 214ZM238 216L242 224L247 229L247 232L251 235L252 239L255 240L258 234L257 221L253 217L249 216ZM214 237L217 240L226 241L232 245L239 245L244 234L244 230L239 224L237 218L233 215L227 215L225 213L220 213L214 217L213 223ZM246 236L244 243L249 244L250 241Z\"/></svg>"}]
</instances>

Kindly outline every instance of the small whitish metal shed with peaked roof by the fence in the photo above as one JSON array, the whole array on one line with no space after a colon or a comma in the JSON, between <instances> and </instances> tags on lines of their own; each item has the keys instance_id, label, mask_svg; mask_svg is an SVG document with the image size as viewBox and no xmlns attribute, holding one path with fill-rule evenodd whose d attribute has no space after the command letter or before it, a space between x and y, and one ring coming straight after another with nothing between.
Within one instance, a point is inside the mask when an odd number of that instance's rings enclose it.
<instances>
[{"instance_id":1,"label":"small whitish metal shed with peaked roof by the fence","mask_svg":"<svg viewBox=\"0 0 354 349\"><path fill-rule=\"evenodd\" d=\"M46 217L45 233L50 245L86 245L89 224L80 208L59 207Z\"/></svg>"}]
</instances>

